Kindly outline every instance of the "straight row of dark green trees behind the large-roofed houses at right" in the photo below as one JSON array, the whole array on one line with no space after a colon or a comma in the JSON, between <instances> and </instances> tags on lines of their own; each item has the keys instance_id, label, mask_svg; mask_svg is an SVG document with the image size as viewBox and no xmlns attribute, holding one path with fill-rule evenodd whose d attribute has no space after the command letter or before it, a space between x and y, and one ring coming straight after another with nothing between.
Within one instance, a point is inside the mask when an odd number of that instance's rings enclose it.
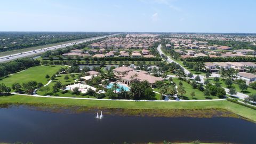
<instances>
[{"instance_id":1,"label":"straight row of dark green trees behind the large-roofed houses at right","mask_svg":"<svg viewBox=\"0 0 256 144\"><path fill-rule=\"evenodd\" d=\"M186 61L204 61L204 62L240 62L240 61L250 61L250 62L256 62L255 57L216 57L216 58L210 58L210 57L189 57L186 59L181 59Z\"/></svg>"}]
</instances>

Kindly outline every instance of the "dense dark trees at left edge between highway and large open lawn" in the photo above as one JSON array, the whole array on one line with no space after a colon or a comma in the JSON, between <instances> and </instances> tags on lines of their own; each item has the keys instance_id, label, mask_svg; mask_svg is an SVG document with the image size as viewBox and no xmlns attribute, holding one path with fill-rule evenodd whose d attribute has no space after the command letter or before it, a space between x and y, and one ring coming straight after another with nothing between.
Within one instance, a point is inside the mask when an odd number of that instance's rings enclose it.
<instances>
[{"instance_id":1,"label":"dense dark trees at left edge between highway and large open lawn","mask_svg":"<svg viewBox=\"0 0 256 144\"><path fill-rule=\"evenodd\" d=\"M29 67L38 66L39 64L40 61L29 58L17 59L6 63L0 63L0 77L16 73L20 70L24 70Z\"/></svg>"}]
</instances>

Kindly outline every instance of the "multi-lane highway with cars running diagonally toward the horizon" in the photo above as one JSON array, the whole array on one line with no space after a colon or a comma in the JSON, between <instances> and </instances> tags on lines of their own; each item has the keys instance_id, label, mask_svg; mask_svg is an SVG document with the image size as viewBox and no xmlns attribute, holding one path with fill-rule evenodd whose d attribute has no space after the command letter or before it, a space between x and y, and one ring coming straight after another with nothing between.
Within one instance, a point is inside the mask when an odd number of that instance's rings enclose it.
<instances>
[{"instance_id":1,"label":"multi-lane highway with cars running diagonally toward the horizon","mask_svg":"<svg viewBox=\"0 0 256 144\"><path fill-rule=\"evenodd\" d=\"M61 49L61 48L67 47L67 46L72 46L74 44L85 43L85 42L94 41L97 39L111 37L111 36L115 36L115 35L118 35L118 34L90 37L90 38L84 39L83 41L77 41L77 42L73 42L73 43L61 44L61 45L56 45L56 46L51 46L51 47L45 47L43 49L37 49L37 50L33 50L33 51L27 51L27 52L16 53L16 54L11 54L11 55L5 55L3 57L0 57L0 62L6 62L6 61L11 61L11 60L19 59L19 58L23 58L23 57L29 57L29 56L35 55L35 54L42 54L45 51L57 50L57 49Z\"/></svg>"}]
</instances>

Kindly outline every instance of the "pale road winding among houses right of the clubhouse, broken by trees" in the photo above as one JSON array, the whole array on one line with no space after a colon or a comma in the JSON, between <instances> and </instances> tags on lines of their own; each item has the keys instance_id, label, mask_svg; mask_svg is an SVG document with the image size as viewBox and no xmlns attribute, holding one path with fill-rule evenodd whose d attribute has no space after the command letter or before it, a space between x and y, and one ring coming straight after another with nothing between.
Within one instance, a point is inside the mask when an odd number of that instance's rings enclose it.
<instances>
[{"instance_id":1,"label":"pale road winding among houses right of the clubhouse, broken by trees","mask_svg":"<svg viewBox=\"0 0 256 144\"><path fill-rule=\"evenodd\" d=\"M161 44L159 44L158 46L157 46L157 51L159 52L159 54L160 55L162 55L162 54L164 54L163 53L163 51L161 50ZM165 54L164 54L165 55ZM166 55L167 56L167 55ZM162 57L162 56L161 56ZM167 62L175 62L174 60L172 60L169 56L167 56L167 60L166 60ZM175 62L175 63L177 63L178 65L180 65L178 62ZM181 65L180 65L181 66ZM182 66L181 66L182 67ZM186 74L189 74L190 72L186 69L186 68L184 68L184 67L182 67L183 69L184 69L184 71L185 71L185 73ZM196 75L193 75L194 77L193 78L195 78L195 76ZM219 75L218 74L215 74L214 76L217 76L217 77L219 77ZM204 83L204 76L202 76L202 75L199 75L199 77L201 78L201 83ZM225 88L225 87L223 87L224 89L225 89L225 91L226 91L226 93L228 94L228 89L227 88ZM247 94L243 94L243 93L241 93L241 92L237 92L237 94L236 95L233 95L234 97L237 97L237 98L239 98L239 99L244 99L244 98L246 98L246 97L249 97L249 95L247 95Z\"/></svg>"}]
</instances>

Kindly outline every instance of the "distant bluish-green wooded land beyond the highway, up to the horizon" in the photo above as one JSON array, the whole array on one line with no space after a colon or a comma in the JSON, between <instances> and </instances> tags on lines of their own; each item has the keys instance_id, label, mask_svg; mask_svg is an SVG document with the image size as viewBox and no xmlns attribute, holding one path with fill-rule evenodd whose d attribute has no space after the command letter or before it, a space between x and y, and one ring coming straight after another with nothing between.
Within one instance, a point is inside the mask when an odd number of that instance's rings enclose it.
<instances>
[{"instance_id":1,"label":"distant bluish-green wooded land beyond the highway, up to the horizon","mask_svg":"<svg viewBox=\"0 0 256 144\"><path fill-rule=\"evenodd\" d=\"M107 35L93 32L1 32L0 52Z\"/></svg>"}]
</instances>

